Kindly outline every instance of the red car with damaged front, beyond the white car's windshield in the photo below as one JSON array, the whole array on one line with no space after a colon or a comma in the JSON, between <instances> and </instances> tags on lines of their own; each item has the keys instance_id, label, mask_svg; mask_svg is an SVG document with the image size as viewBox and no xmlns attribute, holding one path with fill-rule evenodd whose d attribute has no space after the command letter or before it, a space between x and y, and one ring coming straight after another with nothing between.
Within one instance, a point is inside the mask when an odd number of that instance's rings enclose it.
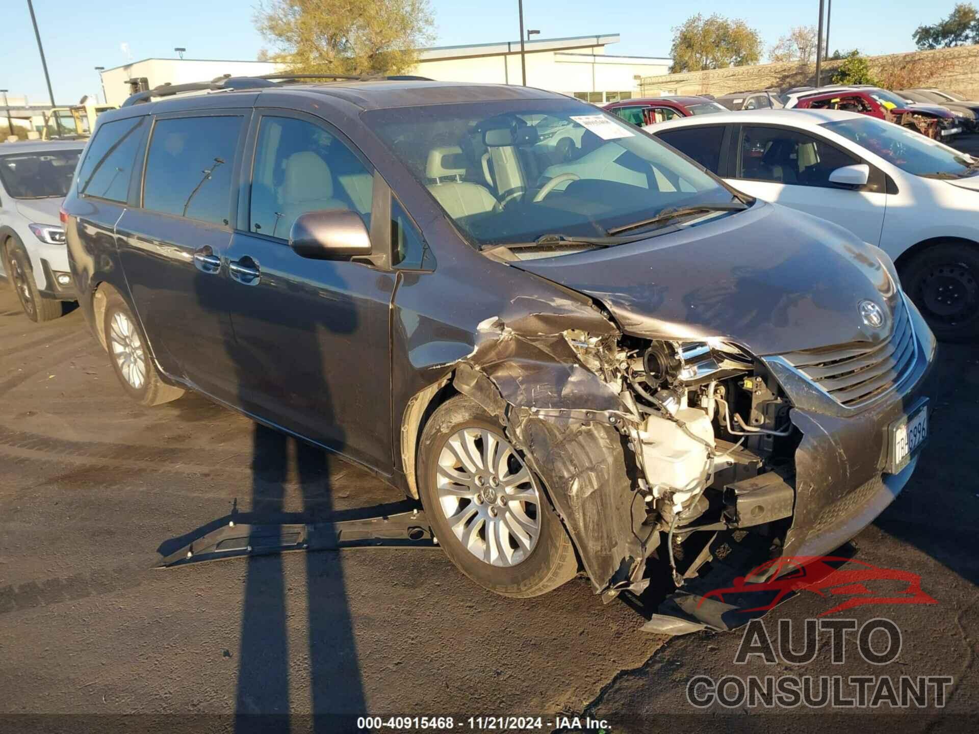
<instances>
[{"instance_id":1,"label":"red car with damaged front, beyond the white car's windshield","mask_svg":"<svg viewBox=\"0 0 979 734\"><path fill-rule=\"evenodd\" d=\"M799 110L846 110L886 119L889 122L917 130L933 140L948 140L962 131L961 123L949 110L937 106L909 105L903 99L876 87L856 87L830 91L814 90L799 96Z\"/></svg>"}]
</instances>

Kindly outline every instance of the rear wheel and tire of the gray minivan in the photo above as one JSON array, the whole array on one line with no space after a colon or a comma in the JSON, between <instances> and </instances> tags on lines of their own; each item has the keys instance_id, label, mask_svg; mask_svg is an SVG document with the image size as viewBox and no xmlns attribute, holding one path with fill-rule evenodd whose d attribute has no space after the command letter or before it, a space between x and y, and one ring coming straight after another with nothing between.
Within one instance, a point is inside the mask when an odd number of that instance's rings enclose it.
<instances>
[{"instance_id":1,"label":"rear wheel and tire of the gray minivan","mask_svg":"<svg viewBox=\"0 0 979 734\"><path fill-rule=\"evenodd\" d=\"M106 300L103 328L113 370L131 398L143 405L160 405L184 393L160 379L146 335L125 300L116 293Z\"/></svg>"}]
</instances>

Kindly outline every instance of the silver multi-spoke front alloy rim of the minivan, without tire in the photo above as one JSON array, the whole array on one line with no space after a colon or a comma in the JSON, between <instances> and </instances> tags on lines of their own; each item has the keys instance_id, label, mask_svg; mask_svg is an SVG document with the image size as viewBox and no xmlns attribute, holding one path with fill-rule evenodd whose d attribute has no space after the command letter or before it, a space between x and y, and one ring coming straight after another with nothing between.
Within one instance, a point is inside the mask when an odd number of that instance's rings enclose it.
<instances>
[{"instance_id":1,"label":"silver multi-spoke front alloy rim of the minivan, without tire","mask_svg":"<svg viewBox=\"0 0 979 734\"><path fill-rule=\"evenodd\" d=\"M440 509L459 542L490 566L526 561L540 537L540 492L503 436L465 428L439 454Z\"/></svg>"}]
</instances>

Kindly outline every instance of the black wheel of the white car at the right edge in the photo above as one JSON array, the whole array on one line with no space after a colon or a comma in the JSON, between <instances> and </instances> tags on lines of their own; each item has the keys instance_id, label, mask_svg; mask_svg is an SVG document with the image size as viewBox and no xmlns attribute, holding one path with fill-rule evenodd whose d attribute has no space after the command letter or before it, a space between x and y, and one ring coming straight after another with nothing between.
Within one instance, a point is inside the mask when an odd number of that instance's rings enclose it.
<instances>
[{"instance_id":1,"label":"black wheel of the white car at the right edge","mask_svg":"<svg viewBox=\"0 0 979 734\"><path fill-rule=\"evenodd\" d=\"M939 340L979 337L979 248L934 245L901 268L901 283Z\"/></svg>"}]
</instances>

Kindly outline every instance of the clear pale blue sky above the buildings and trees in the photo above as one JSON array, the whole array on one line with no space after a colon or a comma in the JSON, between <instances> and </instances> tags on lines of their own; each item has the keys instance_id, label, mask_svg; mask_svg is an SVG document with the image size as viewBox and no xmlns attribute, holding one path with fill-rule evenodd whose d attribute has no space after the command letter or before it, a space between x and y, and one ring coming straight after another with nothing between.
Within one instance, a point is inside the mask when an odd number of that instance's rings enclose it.
<instances>
[{"instance_id":1,"label":"clear pale blue sky above the buildings and trees","mask_svg":"<svg viewBox=\"0 0 979 734\"><path fill-rule=\"evenodd\" d=\"M437 45L516 40L517 0L473 2L431 0ZM913 50L910 34L922 23L947 16L956 0L836 0L831 48L859 48L867 54ZM142 8L159 9L151 15ZM539 37L620 33L610 54L666 56L671 28L702 13L742 18L757 28L766 46L792 25L816 23L818 0L721 0L646 3L641 0L525 0L527 27ZM58 104L76 102L99 89L95 67L107 69L147 57L172 57L174 46L193 59L255 59L263 45L253 27L248 0L34 0ZM5 30L0 88L47 101L44 75L30 26L26 0L4 0ZM127 44L129 55L122 48Z\"/></svg>"}]
</instances>

